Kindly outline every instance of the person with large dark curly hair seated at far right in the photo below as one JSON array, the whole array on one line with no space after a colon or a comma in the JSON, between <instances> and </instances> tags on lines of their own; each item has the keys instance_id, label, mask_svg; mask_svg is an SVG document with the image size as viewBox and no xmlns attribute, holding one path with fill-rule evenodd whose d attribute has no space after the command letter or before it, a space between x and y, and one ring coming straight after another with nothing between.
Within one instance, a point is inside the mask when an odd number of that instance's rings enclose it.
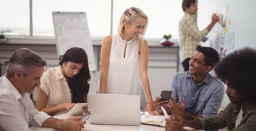
<instances>
[{"instance_id":1,"label":"person with large dark curly hair seated at far right","mask_svg":"<svg viewBox=\"0 0 256 131\"><path fill-rule=\"evenodd\" d=\"M232 131L256 130L256 49L245 47L230 53L215 66L215 73L228 86L225 91L230 99L228 106L209 118L185 120L175 115L166 121L166 131L185 130L183 126L203 130L226 126ZM177 104L175 107L180 108Z\"/></svg>"}]
</instances>

